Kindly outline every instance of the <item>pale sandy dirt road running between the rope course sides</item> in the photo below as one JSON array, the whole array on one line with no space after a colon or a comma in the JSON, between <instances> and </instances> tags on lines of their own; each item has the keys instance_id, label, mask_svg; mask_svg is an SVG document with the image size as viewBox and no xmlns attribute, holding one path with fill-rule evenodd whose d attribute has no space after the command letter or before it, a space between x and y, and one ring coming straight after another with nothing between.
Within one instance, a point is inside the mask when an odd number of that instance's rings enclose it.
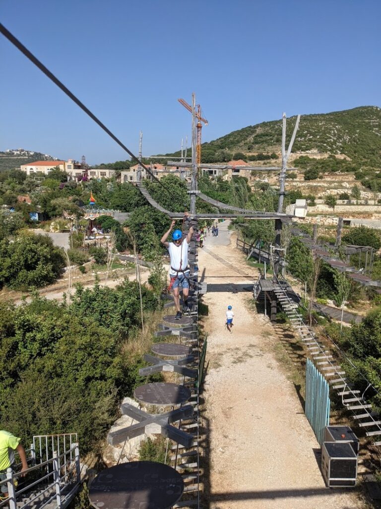
<instances>
[{"instance_id":1,"label":"pale sandy dirt road running between the rope course sides","mask_svg":"<svg viewBox=\"0 0 381 509\"><path fill-rule=\"evenodd\" d=\"M252 287L256 269L230 245L226 222L217 238L206 237L199 268L208 283L204 397L210 508L368 507L355 491L325 486L317 463L319 444L293 383L276 360L275 330L250 308L252 295L245 289ZM235 314L231 334L225 328L229 304Z\"/></svg>"}]
</instances>

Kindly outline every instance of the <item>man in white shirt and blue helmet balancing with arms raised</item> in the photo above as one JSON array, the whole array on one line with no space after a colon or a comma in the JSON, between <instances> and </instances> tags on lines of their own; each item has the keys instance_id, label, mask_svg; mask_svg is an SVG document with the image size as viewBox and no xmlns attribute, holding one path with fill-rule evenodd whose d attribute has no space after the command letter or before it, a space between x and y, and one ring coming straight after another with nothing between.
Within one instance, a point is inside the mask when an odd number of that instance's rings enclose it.
<instances>
[{"instance_id":1,"label":"man in white shirt and blue helmet balancing with arms raised","mask_svg":"<svg viewBox=\"0 0 381 509\"><path fill-rule=\"evenodd\" d=\"M184 216L185 218L185 216ZM187 312L188 306L188 295L189 295L189 267L188 267L188 246L190 239L193 235L193 227L189 228L186 237L183 237L181 230L175 230L172 234L173 242L167 242L168 236L172 232L175 225L175 220L172 221L170 229L163 235L161 243L166 246L170 257L170 269L169 277L171 279L168 290L173 289L173 300L176 306L176 320L181 318L180 310L180 285L182 287L182 298L184 304L182 310L184 313Z\"/></svg>"}]
</instances>

